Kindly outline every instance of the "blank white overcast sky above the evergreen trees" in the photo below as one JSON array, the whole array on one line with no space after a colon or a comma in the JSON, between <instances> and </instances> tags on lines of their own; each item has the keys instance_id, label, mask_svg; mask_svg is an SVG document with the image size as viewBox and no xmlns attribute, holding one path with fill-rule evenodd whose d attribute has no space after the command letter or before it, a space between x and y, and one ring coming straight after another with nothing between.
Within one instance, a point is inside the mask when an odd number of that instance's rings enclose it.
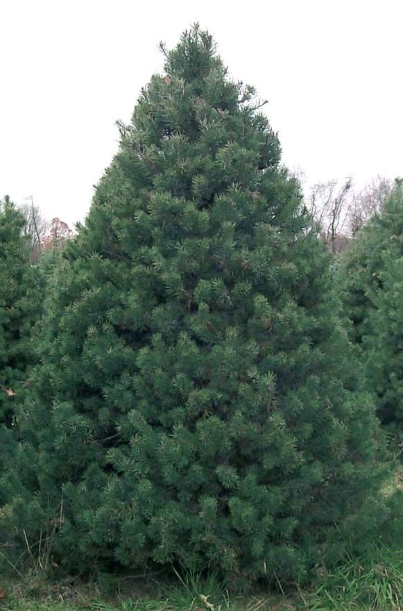
<instances>
[{"instance_id":1,"label":"blank white overcast sky above the evergreen trees","mask_svg":"<svg viewBox=\"0 0 403 611\"><path fill-rule=\"evenodd\" d=\"M198 21L308 183L403 174L402 0L0 0L0 196L83 219L168 47Z\"/></svg>"}]
</instances>

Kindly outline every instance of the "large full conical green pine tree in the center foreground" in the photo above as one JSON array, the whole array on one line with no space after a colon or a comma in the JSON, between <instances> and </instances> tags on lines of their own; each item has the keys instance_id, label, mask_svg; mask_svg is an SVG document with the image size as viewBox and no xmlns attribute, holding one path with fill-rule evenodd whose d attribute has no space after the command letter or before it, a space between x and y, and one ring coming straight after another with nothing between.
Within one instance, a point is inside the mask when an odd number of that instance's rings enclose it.
<instances>
[{"instance_id":1,"label":"large full conical green pine tree in the center foreground","mask_svg":"<svg viewBox=\"0 0 403 611\"><path fill-rule=\"evenodd\" d=\"M377 489L329 258L279 164L252 89L185 33L49 298L14 515L31 538L49 518L64 566L289 576Z\"/></svg>"}]
</instances>

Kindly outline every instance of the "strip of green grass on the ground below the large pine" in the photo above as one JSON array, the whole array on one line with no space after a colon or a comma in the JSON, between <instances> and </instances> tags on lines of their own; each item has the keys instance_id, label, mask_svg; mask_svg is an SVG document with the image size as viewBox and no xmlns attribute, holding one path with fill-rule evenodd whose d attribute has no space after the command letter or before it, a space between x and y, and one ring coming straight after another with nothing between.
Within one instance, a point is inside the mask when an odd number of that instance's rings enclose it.
<instances>
[{"instance_id":1,"label":"strip of green grass on the ground below the large pine","mask_svg":"<svg viewBox=\"0 0 403 611\"><path fill-rule=\"evenodd\" d=\"M214 576L176 574L175 580L104 576L97 583L53 583L32 574L0 576L0 611L403 611L403 549L373 546L323 571L310 592L288 596L230 594Z\"/></svg>"}]
</instances>

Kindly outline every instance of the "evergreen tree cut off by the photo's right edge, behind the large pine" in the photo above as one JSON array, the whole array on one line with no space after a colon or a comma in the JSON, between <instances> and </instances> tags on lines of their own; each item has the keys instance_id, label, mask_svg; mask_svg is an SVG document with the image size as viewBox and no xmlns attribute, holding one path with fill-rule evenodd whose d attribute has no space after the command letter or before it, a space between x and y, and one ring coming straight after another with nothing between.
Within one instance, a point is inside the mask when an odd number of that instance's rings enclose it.
<instances>
[{"instance_id":1,"label":"evergreen tree cut off by the photo's right edge, behind the large pine","mask_svg":"<svg viewBox=\"0 0 403 611\"><path fill-rule=\"evenodd\" d=\"M395 440L403 429L402 184L354 238L341 267L343 305L352 340L359 346L368 388L377 395L377 412ZM401 439L402 440L402 439Z\"/></svg>"}]
</instances>

